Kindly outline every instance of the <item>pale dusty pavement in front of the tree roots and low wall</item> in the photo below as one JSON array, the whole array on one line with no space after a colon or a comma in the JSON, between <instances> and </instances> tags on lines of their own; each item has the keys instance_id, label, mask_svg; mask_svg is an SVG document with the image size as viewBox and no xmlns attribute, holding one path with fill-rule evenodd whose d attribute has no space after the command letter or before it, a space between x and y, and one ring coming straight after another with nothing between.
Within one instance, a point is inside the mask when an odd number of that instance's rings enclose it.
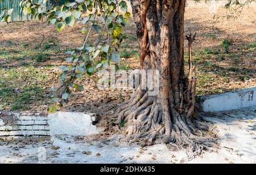
<instances>
[{"instance_id":1,"label":"pale dusty pavement in front of the tree roots and low wall","mask_svg":"<svg viewBox=\"0 0 256 175\"><path fill-rule=\"evenodd\" d=\"M141 147L120 142L123 135L94 139L53 136L51 140L0 141L0 163L256 163L255 107L214 113L218 148L188 159L187 151L168 150L166 144Z\"/></svg>"}]
</instances>

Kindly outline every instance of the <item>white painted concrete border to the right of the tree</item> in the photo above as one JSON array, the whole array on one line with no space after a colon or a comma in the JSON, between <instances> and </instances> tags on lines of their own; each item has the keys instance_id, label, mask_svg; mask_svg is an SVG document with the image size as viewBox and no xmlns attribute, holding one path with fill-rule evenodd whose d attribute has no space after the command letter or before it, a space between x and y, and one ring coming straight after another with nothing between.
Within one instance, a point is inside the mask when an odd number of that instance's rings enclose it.
<instances>
[{"instance_id":1,"label":"white painted concrete border to the right of the tree","mask_svg":"<svg viewBox=\"0 0 256 175\"><path fill-rule=\"evenodd\" d=\"M220 112L256 105L256 86L218 95L201 96L204 112Z\"/></svg>"}]
</instances>

